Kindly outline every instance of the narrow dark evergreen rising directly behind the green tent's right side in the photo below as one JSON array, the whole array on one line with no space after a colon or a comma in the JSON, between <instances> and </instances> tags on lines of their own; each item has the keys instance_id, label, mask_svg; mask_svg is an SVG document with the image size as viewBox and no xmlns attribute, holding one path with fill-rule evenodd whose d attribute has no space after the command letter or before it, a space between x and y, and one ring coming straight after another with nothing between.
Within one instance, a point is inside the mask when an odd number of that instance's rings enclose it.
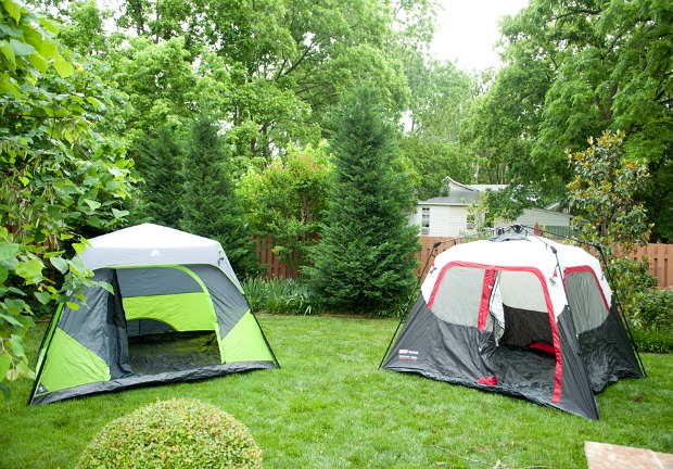
<instances>
[{"instance_id":1,"label":"narrow dark evergreen rising directly behind the green tent's right side","mask_svg":"<svg viewBox=\"0 0 673 469\"><path fill-rule=\"evenodd\" d=\"M256 272L258 263L242 203L211 117L200 116L194 121L188 145L181 228L219 241L237 274Z\"/></svg>"}]
</instances>

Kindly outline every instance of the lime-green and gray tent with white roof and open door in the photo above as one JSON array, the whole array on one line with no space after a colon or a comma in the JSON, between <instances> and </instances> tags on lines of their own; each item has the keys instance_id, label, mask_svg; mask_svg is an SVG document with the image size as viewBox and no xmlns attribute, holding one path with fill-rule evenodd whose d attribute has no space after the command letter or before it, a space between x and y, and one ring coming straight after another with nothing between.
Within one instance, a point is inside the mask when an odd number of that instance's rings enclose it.
<instances>
[{"instance_id":1,"label":"lime-green and gray tent with white roof and open door","mask_svg":"<svg viewBox=\"0 0 673 469\"><path fill-rule=\"evenodd\" d=\"M90 243L80 258L113 293L59 307L29 404L279 367L217 241L143 224Z\"/></svg>"}]
</instances>

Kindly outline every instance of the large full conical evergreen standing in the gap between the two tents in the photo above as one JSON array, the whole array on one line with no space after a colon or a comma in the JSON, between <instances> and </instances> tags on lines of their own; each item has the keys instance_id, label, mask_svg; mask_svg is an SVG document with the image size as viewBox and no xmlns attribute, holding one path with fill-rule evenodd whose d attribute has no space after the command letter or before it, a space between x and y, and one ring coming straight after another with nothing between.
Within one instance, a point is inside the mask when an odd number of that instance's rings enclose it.
<instances>
[{"instance_id":1,"label":"large full conical evergreen standing in the gap between the two tents","mask_svg":"<svg viewBox=\"0 0 673 469\"><path fill-rule=\"evenodd\" d=\"M377 92L359 87L334 114L327 223L306 269L327 303L355 310L397 306L415 283L417 228L410 183L395 170L396 129Z\"/></svg>"}]
</instances>

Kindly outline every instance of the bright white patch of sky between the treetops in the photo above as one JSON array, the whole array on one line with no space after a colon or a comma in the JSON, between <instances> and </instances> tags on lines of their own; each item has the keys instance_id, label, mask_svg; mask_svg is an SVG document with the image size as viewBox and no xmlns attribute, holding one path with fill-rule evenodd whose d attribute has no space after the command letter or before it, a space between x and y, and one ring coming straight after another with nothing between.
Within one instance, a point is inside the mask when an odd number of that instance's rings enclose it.
<instances>
[{"instance_id":1,"label":"bright white patch of sky between the treetops","mask_svg":"<svg viewBox=\"0 0 673 469\"><path fill-rule=\"evenodd\" d=\"M517 14L529 0L440 0L443 11L437 15L431 53L435 59L450 60L466 72L497 66L493 50L500 38L498 20Z\"/></svg>"}]
</instances>

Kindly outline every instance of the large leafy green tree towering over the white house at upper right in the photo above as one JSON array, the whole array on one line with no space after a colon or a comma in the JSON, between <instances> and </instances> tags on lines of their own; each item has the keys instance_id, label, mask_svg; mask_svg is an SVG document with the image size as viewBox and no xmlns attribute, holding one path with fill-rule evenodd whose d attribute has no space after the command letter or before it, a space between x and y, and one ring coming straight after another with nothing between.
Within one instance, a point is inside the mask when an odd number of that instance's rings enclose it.
<instances>
[{"instance_id":1,"label":"large leafy green tree towering over the white house at upper right","mask_svg":"<svg viewBox=\"0 0 673 469\"><path fill-rule=\"evenodd\" d=\"M515 110L510 123L532 118L533 134L504 136L532 139L530 154L517 156L524 162L516 167L521 182L562 195L572 177L564 150L581 150L604 129L624 129L625 154L648 162L651 177L636 198L647 204L653 236L673 233L672 20L666 1L532 0L504 22L508 74L521 80L504 89L515 96L501 109ZM512 168L513 162L508 157Z\"/></svg>"}]
</instances>

